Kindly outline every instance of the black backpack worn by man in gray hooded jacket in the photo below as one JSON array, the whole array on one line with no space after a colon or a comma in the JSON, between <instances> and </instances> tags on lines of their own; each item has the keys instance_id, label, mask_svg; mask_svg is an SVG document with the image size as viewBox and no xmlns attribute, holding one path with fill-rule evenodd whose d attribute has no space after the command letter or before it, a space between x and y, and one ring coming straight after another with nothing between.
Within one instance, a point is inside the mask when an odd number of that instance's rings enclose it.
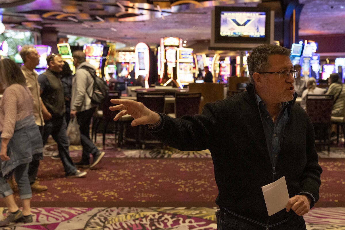
<instances>
[{"instance_id":1,"label":"black backpack worn by man in gray hooded jacket","mask_svg":"<svg viewBox=\"0 0 345 230\"><path fill-rule=\"evenodd\" d=\"M108 98L108 95L109 95L109 87L107 85L107 82L105 82L102 78L97 77L95 70L93 70L92 68L87 67L87 66L82 66L80 68L87 70L91 74L94 80L92 96L88 94L89 98L91 99L91 103L92 104L103 103L103 101L106 98Z\"/></svg>"}]
</instances>

